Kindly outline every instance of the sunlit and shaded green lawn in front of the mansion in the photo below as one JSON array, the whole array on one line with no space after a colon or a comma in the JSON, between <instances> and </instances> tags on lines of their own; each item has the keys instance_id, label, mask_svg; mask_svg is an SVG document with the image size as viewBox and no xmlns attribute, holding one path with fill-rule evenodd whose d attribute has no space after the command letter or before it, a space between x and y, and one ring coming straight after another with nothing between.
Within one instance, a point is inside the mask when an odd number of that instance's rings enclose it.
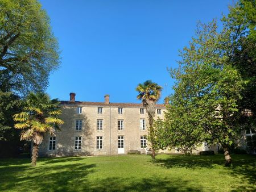
<instances>
[{"instance_id":1,"label":"sunlit and shaded green lawn in front of the mansion","mask_svg":"<svg viewBox=\"0 0 256 192\"><path fill-rule=\"evenodd\" d=\"M0 160L0 191L256 191L256 158L146 155Z\"/></svg>"}]
</instances>

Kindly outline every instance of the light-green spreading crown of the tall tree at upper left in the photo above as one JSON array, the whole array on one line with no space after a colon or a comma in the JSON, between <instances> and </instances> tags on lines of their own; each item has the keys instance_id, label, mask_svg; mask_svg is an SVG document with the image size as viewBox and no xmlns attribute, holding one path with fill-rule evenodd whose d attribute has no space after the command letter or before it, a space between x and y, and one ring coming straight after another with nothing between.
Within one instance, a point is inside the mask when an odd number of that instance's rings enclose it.
<instances>
[{"instance_id":1,"label":"light-green spreading crown of the tall tree at upper left","mask_svg":"<svg viewBox=\"0 0 256 192\"><path fill-rule=\"evenodd\" d=\"M59 66L58 50L38 1L0 1L0 85L8 83L24 95L44 90L49 73Z\"/></svg>"}]
</instances>

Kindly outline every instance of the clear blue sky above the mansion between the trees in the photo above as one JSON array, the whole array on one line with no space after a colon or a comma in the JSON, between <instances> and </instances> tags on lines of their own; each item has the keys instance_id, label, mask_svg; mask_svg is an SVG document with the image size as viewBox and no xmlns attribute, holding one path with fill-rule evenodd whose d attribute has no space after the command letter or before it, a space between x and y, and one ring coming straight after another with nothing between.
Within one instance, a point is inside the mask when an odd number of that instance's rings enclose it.
<instances>
[{"instance_id":1,"label":"clear blue sky above the mansion between the trees","mask_svg":"<svg viewBox=\"0 0 256 192\"><path fill-rule=\"evenodd\" d=\"M194 36L196 24L220 19L232 0L40 0L59 40L61 66L51 73L51 98L135 102L146 80L173 93L167 68Z\"/></svg>"}]
</instances>

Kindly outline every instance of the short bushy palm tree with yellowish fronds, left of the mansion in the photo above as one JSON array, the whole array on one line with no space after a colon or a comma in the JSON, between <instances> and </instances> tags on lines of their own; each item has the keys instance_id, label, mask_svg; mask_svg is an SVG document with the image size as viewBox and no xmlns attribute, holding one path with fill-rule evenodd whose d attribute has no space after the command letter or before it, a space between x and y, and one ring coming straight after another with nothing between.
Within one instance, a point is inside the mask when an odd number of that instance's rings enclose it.
<instances>
[{"instance_id":1,"label":"short bushy palm tree with yellowish fronds, left of the mansion","mask_svg":"<svg viewBox=\"0 0 256 192\"><path fill-rule=\"evenodd\" d=\"M59 103L57 99L51 100L46 93L30 93L24 102L23 111L14 115L14 120L18 122L14 127L22 130L20 140L32 141L32 166L36 165L44 135L48 132L55 136L56 129L63 124L58 118L61 114Z\"/></svg>"}]
</instances>

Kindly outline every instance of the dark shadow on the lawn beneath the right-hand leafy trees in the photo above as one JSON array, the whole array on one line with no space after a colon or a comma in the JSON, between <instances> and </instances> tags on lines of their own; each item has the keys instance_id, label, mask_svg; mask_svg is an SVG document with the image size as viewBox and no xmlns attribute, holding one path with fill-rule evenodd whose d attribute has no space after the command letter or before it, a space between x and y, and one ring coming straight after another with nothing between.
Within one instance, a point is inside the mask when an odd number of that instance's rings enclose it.
<instances>
[{"instance_id":1,"label":"dark shadow on the lawn beneath the right-hand leafy trees","mask_svg":"<svg viewBox=\"0 0 256 192\"><path fill-rule=\"evenodd\" d=\"M256 158L252 155L232 155L232 166L224 168L222 174L231 174L241 180L241 185L233 191L256 191ZM212 169L219 165L224 167L224 156L185 156L170 155L168 158L157 158L152 163L163 168ZM225 170L225 171L224 171Z\"/></svg>"}]
</instances>

